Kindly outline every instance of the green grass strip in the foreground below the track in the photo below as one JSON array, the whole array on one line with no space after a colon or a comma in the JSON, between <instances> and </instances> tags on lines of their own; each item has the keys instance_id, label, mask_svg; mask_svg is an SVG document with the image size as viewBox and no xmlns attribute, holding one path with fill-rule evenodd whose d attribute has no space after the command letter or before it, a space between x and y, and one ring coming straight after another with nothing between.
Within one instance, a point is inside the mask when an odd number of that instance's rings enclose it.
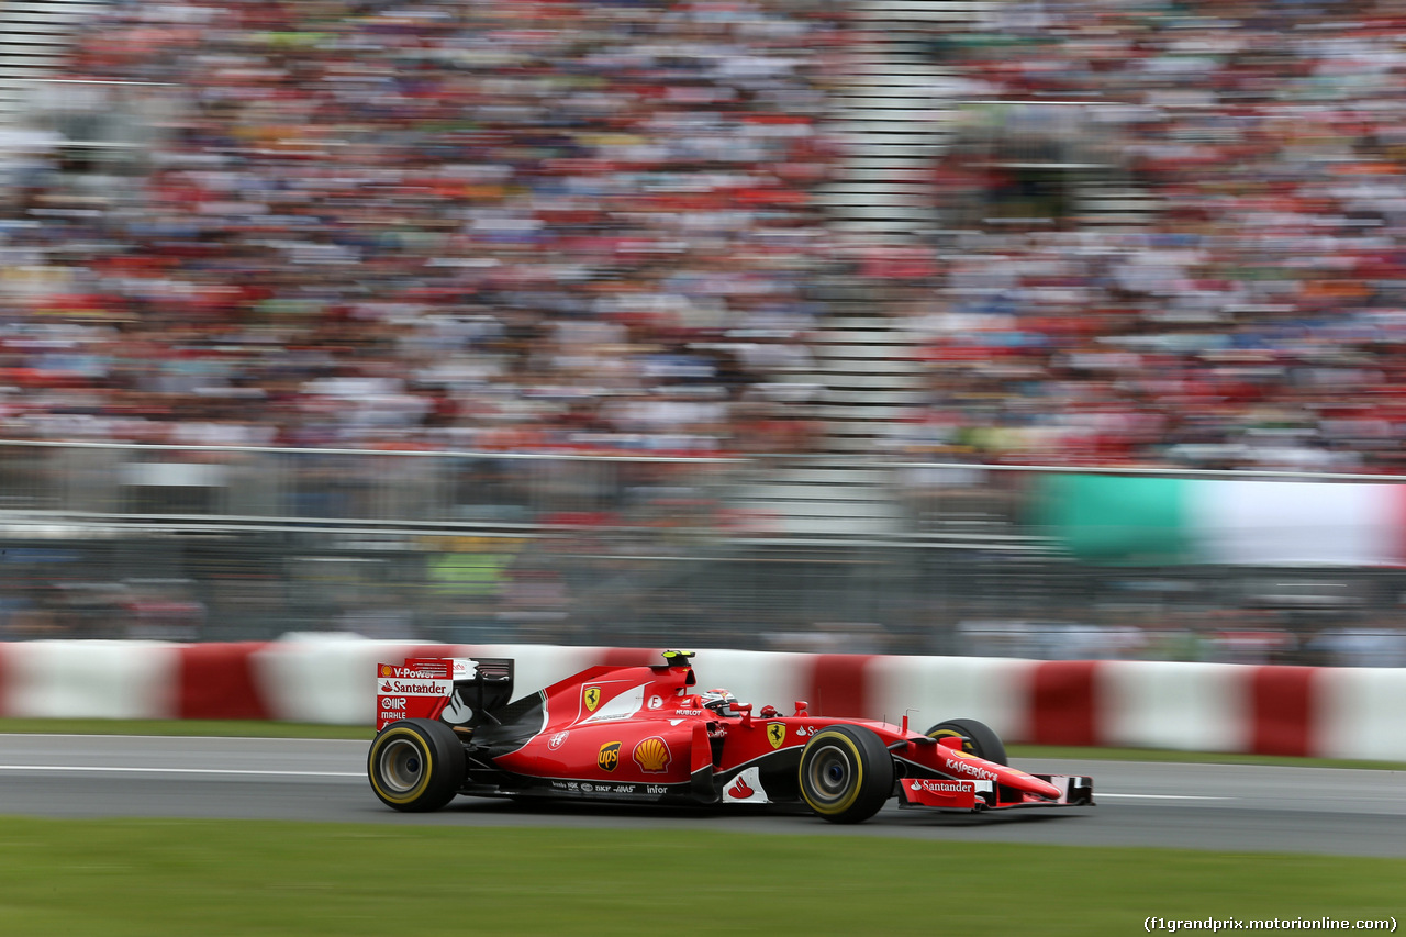
<instances>
[{"instance_id":1,"label":"green grass strip in the foreground below the track","mask_svg":"<svg viewBox=\"0 0 1406 937\"><path fill-rule=\"evenodd\" d=\"M851 836L0 823L7 934L1132 934L1400 914L1406 860Z\"/></svg>"}]
</instances>

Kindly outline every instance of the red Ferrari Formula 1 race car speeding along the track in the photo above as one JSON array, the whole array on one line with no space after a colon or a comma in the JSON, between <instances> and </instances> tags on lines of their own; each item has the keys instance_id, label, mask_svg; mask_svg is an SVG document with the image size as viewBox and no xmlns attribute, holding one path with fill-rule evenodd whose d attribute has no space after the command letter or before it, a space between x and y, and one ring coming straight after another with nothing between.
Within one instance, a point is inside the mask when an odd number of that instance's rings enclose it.
<instances>
[{"instance_id":1,"label":"red Ferrari Formula 1 race car speeding along the track","mask_svg":"<svg viewBox=\"0 0 1406 937\"><path fill-rule=\"evenodd\" d=\"M512 660L408 658L377 665L371 789L396 810L472 796L628 803L804 802L834 823L900 808L1007 810L1088 806L1087 777L1026 774L973 719L927 733L869 719L811 716L797 701L756 715L724 691L699 692L692 653L592 667L512 699Z\"/></svg>"}]
</instances>

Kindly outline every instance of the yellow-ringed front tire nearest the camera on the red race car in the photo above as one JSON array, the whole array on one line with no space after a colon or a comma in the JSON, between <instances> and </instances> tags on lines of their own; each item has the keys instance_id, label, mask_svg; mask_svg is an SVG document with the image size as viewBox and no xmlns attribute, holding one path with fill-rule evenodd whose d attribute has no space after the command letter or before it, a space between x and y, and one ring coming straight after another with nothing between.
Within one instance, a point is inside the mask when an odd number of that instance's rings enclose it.
<instances>
[{"instance_id":1,"label":"yellow-ringed front tire nearest the camera on the red race car","mask_svg":"<svg viewBox=\"0 0 1406 937\"><path fill-rule=\"evenodd\" d=\"M830 726L800 753L800 795L831 823L862 823L893 795L893 756L862 726Z\"/></svg>"}]
</instances>

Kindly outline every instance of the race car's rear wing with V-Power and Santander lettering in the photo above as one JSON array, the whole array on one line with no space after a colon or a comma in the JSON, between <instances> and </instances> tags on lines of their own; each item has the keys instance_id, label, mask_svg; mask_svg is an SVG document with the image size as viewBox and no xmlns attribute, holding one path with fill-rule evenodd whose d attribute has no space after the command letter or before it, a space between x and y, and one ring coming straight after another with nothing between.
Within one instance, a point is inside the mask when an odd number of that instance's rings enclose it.
<instances>
[{"instance_id":1,"label":"race car's rear wing with V-Power and Santander lettering","mask_svg":"<svg viewBox=\"0 0 1406 937\"><path fill-rule=\"evenodd\" d=\"M406 657L375 665L375 730L396 719L439 719L451 726L496 722L512 701L513 661L471 657Z\"/></svg>"}]
</instances>

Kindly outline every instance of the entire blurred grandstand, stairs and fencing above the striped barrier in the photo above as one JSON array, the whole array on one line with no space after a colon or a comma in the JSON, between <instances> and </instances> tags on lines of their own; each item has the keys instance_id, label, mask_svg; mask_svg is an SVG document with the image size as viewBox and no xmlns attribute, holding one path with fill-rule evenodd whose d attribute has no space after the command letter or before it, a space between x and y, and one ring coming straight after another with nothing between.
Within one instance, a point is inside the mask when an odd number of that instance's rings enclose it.
<instances>
[{"instance_id":1,"label":"entire blurred grandstand, stairs and fencing above the striped barrier","mask_svg":"<svg viewBox=\"0 0 1406 937\"><path fill-rule=\"evenodd\" d=\"M0 639L1406 665L1406 4L0 7Z\"/></svg>"}]
</instances>

